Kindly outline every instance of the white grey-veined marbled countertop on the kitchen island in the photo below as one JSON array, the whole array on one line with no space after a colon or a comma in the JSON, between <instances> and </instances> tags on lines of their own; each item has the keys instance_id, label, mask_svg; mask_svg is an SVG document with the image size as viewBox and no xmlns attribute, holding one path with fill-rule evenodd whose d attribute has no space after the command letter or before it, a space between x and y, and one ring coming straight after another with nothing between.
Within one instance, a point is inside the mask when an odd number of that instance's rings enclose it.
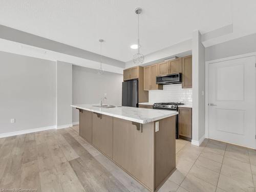
<instances>
[{"instance_id":1,"label":"white grey-veined marbled countertop on the kitchen island","mask_svg":"<svg viewBox=\"0 0 256 192\"><path fill-rule=\"evenodd\" d=\"M87 110L103 115L109 115L120 119L134 121L137 123L149 123L164 119L166 117L177 115L176 111L169 110L155 110L155 109L144 109L144 108L132 108L130 106L121 106L118 108L99 108L98 104L74 104L71 105L73 108Z\"/></svg>"}]
</instances>

